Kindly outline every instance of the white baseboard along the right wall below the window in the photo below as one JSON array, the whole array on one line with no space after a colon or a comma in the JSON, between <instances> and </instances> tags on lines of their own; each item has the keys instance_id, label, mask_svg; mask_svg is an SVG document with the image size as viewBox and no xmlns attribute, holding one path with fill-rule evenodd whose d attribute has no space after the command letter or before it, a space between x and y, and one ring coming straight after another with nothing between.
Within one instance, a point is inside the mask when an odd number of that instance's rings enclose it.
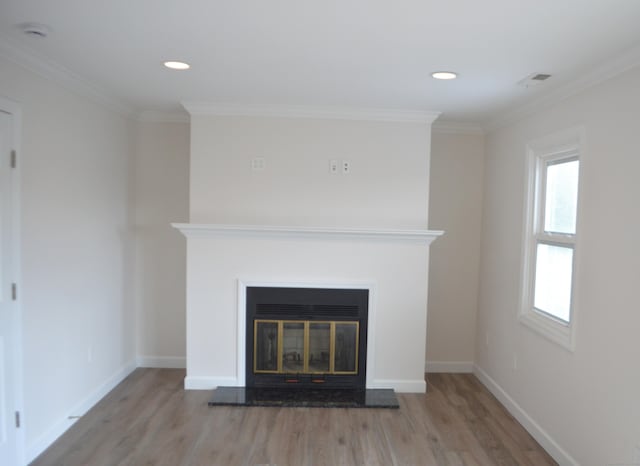
<instances>
[{"instance_id":1,"label":"white baseboard along the right wall below the window","mask_svg":"<svg viewBox=\"0 0 640 466\"><path fill-rule=\"evenodd\" d=\"M507 411L515 417L520 424L536 439L536 441L549 453L560 466L580 466L569 453L564 451L553 438L533 420L533 418L509 396L509 394L493 380L481 367L474 365L473 373L484 384L487 389L493 393L500 403L507 408Z\"/></svg>"}]
</instances>

